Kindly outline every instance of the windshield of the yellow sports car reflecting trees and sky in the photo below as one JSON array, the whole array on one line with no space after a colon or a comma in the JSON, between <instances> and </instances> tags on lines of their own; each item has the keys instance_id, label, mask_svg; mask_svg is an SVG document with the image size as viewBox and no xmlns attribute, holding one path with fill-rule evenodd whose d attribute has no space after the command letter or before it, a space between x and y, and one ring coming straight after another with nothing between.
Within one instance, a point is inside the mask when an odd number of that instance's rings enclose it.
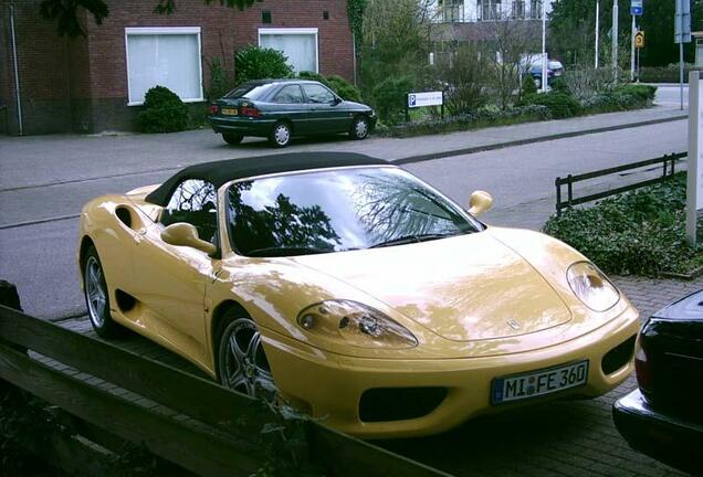
<instances>
[{"instance_id":1,"label":"windshield of the yellow sports car reflecting trees and sky","mask_svg":"<svg viewBox=\"0 0 703 477\"><path fill-rule=\"evenodd\" d=\"M240 181L228 229L245 256L292 256L418 243L483 230L410 173L359 168Z\"/></svg>"}]
</instances>

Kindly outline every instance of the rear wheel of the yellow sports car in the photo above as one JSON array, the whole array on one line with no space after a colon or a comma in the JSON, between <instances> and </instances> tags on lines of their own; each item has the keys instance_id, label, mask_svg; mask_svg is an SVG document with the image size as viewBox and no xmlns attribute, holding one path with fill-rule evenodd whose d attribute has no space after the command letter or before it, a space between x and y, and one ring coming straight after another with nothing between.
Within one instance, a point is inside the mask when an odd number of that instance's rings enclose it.
<instances>
[{"instance_id":1,"label":"rear wheel of the yellow sports car","mask_svg":"<svg viewBox=\"0 0 703 477\"><path fill-rule=\"evenodd\" d=\"M115 338L122 331L109 312L109 293L103 264L95 246L91 245L83 261L83 293L88 318L95 332L102 338Z\"/></svg>"}]
</instances>

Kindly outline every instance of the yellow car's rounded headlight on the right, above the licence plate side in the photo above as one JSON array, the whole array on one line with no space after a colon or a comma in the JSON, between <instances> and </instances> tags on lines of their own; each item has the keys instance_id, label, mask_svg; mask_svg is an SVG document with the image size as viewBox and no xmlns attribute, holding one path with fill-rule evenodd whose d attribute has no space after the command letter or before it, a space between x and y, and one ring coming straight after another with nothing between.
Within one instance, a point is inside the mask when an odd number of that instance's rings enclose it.
<instances>
[{"instance_id":1,"label":"yellow car's rounded headlight on the right, above the licence plate side","mask_svg":"<svg viewBox=\"0 0 703 477\"><path fill-rule=\"evenodd\" d=\"M620 292L590 262L576 262L566 271L574 295L594 311L606 311L620 300Z\"/></svg>"}]
</instances>

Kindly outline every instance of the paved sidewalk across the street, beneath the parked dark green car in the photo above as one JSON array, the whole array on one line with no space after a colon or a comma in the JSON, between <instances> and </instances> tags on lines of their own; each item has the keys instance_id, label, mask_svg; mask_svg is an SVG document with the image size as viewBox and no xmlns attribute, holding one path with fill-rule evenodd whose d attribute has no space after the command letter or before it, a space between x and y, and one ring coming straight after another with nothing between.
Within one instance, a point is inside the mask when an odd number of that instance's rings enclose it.
<instances>
[{"instance_id":1,"label":"paved sidewalk across the street, beneath the parked dark green car","mask_svg":"<svg viewBox=\"0 0 703 477\"><path fill-rule=\"evenodd\" d=\"M490 127L447 135L379 138L364 141L333 138L295 141L286 151L354 151L399 163L471 153L686 117L673 107L654 106L571 119ZM342 139L342 140L340 140ZM210 130L169 135L55 135L0 139L0 192L46 184L175 170L218 159L280 153L258 138L228 146ZM32 173L28 174L27 170Z\"/></svg>"}]
</instances>

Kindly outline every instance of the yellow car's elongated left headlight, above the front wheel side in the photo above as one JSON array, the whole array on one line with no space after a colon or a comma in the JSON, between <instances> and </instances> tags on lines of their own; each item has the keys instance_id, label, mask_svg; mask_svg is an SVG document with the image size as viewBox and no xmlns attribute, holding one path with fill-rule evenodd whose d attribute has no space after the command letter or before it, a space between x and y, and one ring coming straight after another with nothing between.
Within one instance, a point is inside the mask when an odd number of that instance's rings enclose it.
<instances>
[{"instance_id":1,"label":"yellow car's elongated left headlight, above the front wheel side","mask_svg":"<svg viewBox=\"0 0 703 477\"><path fill-rule=\"evenodd\" d=\"M358 301L325 300L297 316L304 330L332 341L359 348L412 348L417 338L381 311Z\"/></svg>"}]
</instances>

